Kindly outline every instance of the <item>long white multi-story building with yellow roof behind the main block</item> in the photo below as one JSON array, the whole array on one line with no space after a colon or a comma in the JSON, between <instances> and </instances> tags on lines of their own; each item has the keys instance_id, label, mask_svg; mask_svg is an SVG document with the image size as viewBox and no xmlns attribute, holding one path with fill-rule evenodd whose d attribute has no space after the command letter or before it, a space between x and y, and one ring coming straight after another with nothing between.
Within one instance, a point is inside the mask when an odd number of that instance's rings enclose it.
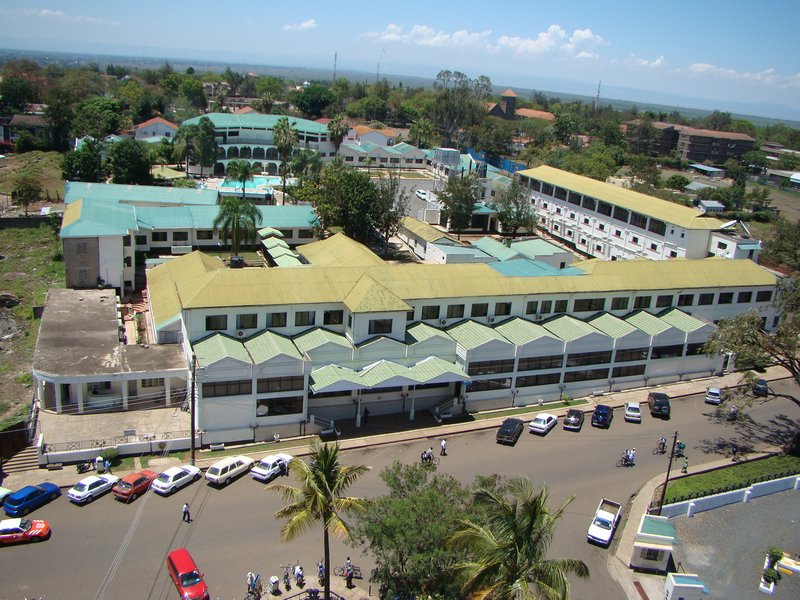
<instances>
[{"instance_id":1,"label":"long white multi-story building with yellow roof behind the main block","mask_svg":"<svg viewBox=\"0 0 800 600\"><path fill-rule=\"evenodd\" d=\"M742 238L724 222L674 202L541 166L520 171L530 190L538 225L571 248L605 260L758 258L760 243ZM757 243L757 247L753 244Z\"/></svg>"}]
</instances>

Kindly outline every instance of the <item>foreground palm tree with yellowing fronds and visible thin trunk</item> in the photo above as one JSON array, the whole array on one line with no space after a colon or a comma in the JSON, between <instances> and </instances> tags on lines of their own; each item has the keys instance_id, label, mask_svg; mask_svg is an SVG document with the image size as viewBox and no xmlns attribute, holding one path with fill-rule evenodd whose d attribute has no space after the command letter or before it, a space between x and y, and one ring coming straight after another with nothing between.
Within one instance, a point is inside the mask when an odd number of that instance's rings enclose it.
<instances>
[{"instance_id":1,"label":"foreground palm tree with yellowing fronds and visible thin trunk","mask_svg":"<svg viewBox=\"0 0 800 600\"><path fill-rule=\"evenodd\" d=\"M364 499L343 494L370 467L342 465L339 463L338 442L315 442L311 447L311 460L307 464L296 460L292 462L291 468L300 487L273 485L267 488L279 493L287 502L285 507L275 513L276 519L286 519L281 529L281 539L291 541L309 531L318 521L322 522L325 600L330 600L331 561L328 533L333 532L341 538L350 539L350 525L344 520L343 514L363 511Z\"/></svg>"}]
</instances>

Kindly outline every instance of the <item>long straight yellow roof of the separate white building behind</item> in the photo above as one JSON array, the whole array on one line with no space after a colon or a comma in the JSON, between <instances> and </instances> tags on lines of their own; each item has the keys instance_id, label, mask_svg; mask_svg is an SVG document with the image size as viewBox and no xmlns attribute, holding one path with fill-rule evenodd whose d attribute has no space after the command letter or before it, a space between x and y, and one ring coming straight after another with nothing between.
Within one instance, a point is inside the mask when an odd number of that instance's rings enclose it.
<instances>
[{"instance_id":1,"label":"long straight yellow roof of the separate white building behind","mask_svg":"<svg viewBox=\"0 0 800 600\"><path fill-rule=\"evenodd\" d=\"M668 200L661 200L618 185L597 181L596 179L583 177L582 175L576 175L546 165L520 171L520 175L573 190L579 194L591 196L597 200L602 200L666 223L673 223L686 229L720 229L724 225L723 221L703 216L702 213L688 206L681 206Z\"/></svg>"}]
</instances>

